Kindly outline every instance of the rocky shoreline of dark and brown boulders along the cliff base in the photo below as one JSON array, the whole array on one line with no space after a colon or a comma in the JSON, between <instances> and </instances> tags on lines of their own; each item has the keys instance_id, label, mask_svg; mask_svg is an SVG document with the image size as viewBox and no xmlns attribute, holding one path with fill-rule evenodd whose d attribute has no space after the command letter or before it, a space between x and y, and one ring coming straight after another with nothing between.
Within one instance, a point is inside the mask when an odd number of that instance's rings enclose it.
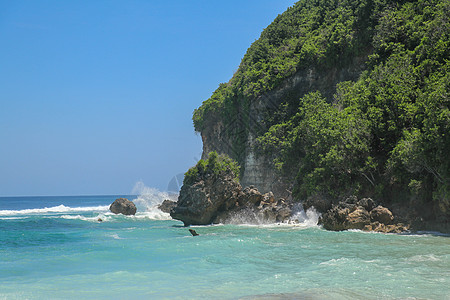
<instances>
[{"instance_id":1,"label":"rocky shoreline of dark and brown boulders along the cliff base","mask_svg":"<svg viewBox=\"0 0 450 300\"><path fill-rule=\"evenodd\" d=\"M349 197L336 204L317 198L304 203L321 212L319 225L327 230L360 229L400 233L410 229L393 213L370 198ZM190 184L183 184L177 202L165 200L159 208L185 226L209 224L267 224L292 222L292 199L276 199L272 192L243 188L230 169L213 172L205 169Z\"/></svg>"}]
</instances>

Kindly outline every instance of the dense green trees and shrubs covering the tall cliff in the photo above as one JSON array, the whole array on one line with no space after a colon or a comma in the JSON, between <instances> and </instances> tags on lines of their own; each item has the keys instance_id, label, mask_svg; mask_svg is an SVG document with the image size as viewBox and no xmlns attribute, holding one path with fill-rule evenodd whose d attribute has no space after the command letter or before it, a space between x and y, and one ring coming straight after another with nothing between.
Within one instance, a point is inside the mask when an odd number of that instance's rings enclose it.
<instances>
[{"instance_id":1,"label":"dense green trees and shrubs covering the tall cliff","mask_svg":"<svg viewBox=\"0 0 450 300\"><path fill-rule=\"evenodd\" d=\"M333 99L311 90L266 118L258 151L295 177L294 197L415 201L450 216L450 1L303 0L253 43L194 112L197 131L226 124L305 67L369 53ZM244 122L245 124L245 122ZM232 139L231 139L232 140ZM242 145L236 145L242 147Z\"/></svg>"}]
</instances>

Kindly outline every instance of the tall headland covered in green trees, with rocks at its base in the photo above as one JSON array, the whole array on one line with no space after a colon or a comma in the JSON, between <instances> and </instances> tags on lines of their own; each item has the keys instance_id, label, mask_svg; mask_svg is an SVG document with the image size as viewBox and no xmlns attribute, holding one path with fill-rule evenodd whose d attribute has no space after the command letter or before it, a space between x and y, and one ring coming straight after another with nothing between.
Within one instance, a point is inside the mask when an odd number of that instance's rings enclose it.
<instances>
[{"instance_id":1,"label":"tall headland covered in green trees, with rocks at its base","mask_svg":"<svg viewBox=\"0 0 450 300\"><path fill-rule=\"evenodd\" d=\"M355 3L297 2L194 111L203 161L228 155L242 186L188 174L175 218L261 215L249 187L330 230L450 232L450 4Z\"/></svg>"}]
</instances>

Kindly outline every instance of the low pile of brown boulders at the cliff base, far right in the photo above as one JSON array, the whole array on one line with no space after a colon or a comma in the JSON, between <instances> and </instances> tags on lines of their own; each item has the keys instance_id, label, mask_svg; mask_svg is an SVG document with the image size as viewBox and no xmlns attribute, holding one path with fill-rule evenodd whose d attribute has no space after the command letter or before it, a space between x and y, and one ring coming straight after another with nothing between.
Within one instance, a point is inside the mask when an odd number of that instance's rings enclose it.
<instances>
[{"instance_id":1,"label":"low pile of brown boulders at the cliff base, far right","mask_svg":"<svg viewBox=\"0 0 450 300\"><path fill-rule=\"evenodd\" d=\"M399 233L409 229L408 226L394 224L392 212L381 205L375 206L370 198L357 200L350 197L338 204L333 204L319 220L325 229L340 231L361 229L386 233Z\"/></svg>"}]
</instances>

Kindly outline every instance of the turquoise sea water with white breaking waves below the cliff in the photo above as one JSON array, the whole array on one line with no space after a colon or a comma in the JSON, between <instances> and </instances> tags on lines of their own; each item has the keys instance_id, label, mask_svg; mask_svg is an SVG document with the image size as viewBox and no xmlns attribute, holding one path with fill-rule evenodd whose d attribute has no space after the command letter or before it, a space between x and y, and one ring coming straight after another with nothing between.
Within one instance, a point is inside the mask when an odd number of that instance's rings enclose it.
<instances>
[{"instance_id":1,"label":"turquoise sea water with white breaking waves below the cliff","mask_svg":"<svg viewBox=\"0 0 450 300\"><path fill-rule=\"evenodd\" d=\"M193 227L167 195L0 198L0 299L450 299L450 237L298 224ZM98 219L102 219L102 222Z\"/></svg>"}]
</instances>

